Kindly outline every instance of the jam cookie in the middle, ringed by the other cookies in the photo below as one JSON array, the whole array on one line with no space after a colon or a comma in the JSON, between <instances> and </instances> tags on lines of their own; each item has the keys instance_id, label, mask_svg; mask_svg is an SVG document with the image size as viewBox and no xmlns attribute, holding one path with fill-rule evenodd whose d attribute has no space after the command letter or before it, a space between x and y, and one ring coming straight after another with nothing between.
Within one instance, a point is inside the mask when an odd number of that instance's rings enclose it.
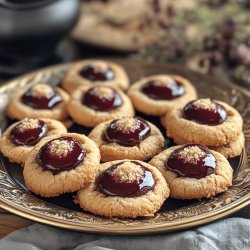
<instances>
[{"instance_id":1,"label":"jam cookie in the middle, ringed by the other cookies","mask_svg":"<svg viewBox=\"0 0 250 250\"><path fill-rule=\"evenodd\" d=\"M108 133L112 138L108 137ZM160 130L137 117L100 123L91 131L89 138L99 147L103 162L123 159L146 161L164 146Z\"/></svg>"}]
</instances>

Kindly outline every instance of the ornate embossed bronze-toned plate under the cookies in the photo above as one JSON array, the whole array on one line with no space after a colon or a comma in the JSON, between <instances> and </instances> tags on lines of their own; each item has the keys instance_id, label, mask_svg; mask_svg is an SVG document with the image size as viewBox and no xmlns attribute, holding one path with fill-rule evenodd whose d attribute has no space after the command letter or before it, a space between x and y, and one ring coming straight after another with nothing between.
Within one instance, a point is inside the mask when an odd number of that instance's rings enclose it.
<instances>
[{"instance_id":1,"label":"ornate embossed bronze-toned plate under the cookies","mask_svg":"<svg viewBox=\"0 0 250 250\"><path fill-rule=\"evenodd\" d=\"M82 211L72 202L72 194L44 199L30 193L24 186L22 168L0 157L0 207L19 216L71 230L102 234L145 234L186 229L212 222L250 204L250 92L232 83L191 72L169 64L146 64L113 59L128 72L131 82L160 73L180 74L197 88L200 97L222 100L235 107L243 116L245 149L241 156L230 159L234 168L233 186L212 199L181 201L168 199L161 210L147 219L104 218ZM0 87L0 126L9 120L4 110L16 89L38 82L58 85L71 64L54 66L18 77ZM146 117L159 125L159 121ZM79 126L71 128L77 131ZM87 131L86 131L87 133ZM169 141L166 141L166 146Z\"/></svg>"}]
</instances>

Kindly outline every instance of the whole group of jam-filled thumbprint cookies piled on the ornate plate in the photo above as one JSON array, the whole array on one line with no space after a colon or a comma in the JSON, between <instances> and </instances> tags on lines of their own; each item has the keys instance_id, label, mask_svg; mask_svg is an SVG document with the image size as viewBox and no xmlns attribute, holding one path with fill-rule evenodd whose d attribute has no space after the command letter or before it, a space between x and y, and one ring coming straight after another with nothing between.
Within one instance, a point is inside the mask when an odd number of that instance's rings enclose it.
<instances>
[{"instance_id":1,"label":"whole group of jam-filled thumbprint cookies piled on the ornate plate","mask_svg":"<svg viewBox=\"0 0 250 250\"><path fill-rule=\"evenodd\" d=\"M187 79L155 75L129 87L121 66L86 60L70 68L62 87L29 86L6 109L19 121L3 133L1 152L24 167L35 194L77 191L85 211L136 218L153 216L168 197L211 198L232 185L223 155L241 153L242 118L226 103L197 99ZM181 145L163 150L159 128L134 109L158 116ZM69 116L90 134L68 133Z\"/></svg>"}]
</instances>

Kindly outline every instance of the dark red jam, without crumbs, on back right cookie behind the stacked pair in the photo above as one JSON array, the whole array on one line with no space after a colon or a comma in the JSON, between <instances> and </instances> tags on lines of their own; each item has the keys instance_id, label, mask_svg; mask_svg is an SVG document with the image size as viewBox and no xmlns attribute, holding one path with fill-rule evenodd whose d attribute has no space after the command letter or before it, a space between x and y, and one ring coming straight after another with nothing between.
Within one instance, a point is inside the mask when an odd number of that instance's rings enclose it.
<instances>
[{"instance_id":1,"label":"dark red jam, without crumbs, on back right cookie behind the stacked pair","mask_svg":"<svg viewBox=\"0 0 250 250\"><path fill-rule=\"evenodd\" d=\"M173 100L184 95L185 87L177 80L164 84L160 80L149 81L142 87L142 92L155 100Z\"/></svg>"}]
</instances>

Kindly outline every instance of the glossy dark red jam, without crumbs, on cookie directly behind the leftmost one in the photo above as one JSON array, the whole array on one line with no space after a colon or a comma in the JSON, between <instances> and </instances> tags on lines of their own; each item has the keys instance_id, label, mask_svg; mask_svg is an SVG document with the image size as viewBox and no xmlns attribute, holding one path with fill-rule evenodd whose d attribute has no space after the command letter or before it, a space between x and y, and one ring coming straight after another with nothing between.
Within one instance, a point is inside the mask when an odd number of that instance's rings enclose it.
<instances>
[{"instance_id":1,"label":"glossy dark red jam, without crumbs, on cookie directly behind the leftmost one","mask_svg":"<svg viewBox=\"0 0 250 250\"><path fill-rule=\"evenodd\" d=\"M62 97L54 89L46 96L36 96L32 94L32 88L30 88L22 96L22 102L34 109L52 109L61 101Z\"/></svg>"}]
</instances>

